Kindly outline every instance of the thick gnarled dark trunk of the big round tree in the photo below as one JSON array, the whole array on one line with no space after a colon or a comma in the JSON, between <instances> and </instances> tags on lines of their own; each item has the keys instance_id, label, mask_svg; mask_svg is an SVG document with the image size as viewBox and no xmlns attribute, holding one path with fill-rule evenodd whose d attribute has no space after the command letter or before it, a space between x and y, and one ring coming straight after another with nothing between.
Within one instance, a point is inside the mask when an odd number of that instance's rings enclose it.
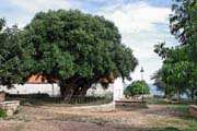
<instances>
[{"instance_id":1,"label":"thick gnarled dark trunk of the big round tree","mask_svg":"<svg viewBox=\"0 0 197 131\"><path fill-rule=\"evenodd\" d=\"M95 80L73 76L69 80L60 81L61 100L63 103L83 103L86 91L93 83L99 81L102 85L107 86L109 83L114 83L114 74L111 72L109 75L102 79L97 78L97 81Z\"/></svg>"}]
</instances>

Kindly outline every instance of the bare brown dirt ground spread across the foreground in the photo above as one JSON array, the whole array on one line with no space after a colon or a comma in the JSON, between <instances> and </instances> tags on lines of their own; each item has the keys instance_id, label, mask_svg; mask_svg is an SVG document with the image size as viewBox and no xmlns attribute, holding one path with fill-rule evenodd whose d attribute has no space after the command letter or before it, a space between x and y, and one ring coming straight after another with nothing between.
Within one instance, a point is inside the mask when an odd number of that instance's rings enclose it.
<instances>
[{"instance_id":1,"label":"bare brown dirt ground spread across the foreground","mask_svg":"<svg viewBox=\"0 0 197 131\"><path fill-rule=\"evenodd\" d=\"M160 105L131 110L22 106L18 115L0 120L0 131L148 131L159 121L179 119L178 114Z\"/></svg>"}]
</instances>

